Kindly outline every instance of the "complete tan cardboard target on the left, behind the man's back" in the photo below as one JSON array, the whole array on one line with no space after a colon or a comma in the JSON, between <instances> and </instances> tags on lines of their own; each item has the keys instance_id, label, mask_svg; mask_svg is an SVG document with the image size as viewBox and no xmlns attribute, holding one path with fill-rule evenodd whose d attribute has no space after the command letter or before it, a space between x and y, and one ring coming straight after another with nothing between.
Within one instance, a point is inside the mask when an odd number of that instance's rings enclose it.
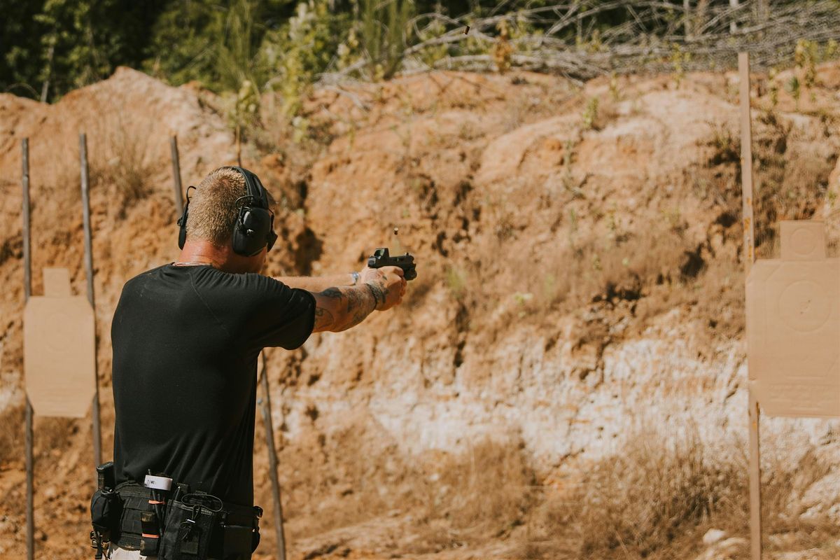
<instances>
[{"instance_id":1,"label":"complete tan cardboard target on the left, behind the man's back","mask_svg":"<svg viewBox=\"0 0 840 560\"><path fill-rule=\"evenodd\" d=\"M45 269L44 290L24 308L26 393L39 416L81 418L96 390L93 310L66 269Z\"/></svg>"}]
</instances>

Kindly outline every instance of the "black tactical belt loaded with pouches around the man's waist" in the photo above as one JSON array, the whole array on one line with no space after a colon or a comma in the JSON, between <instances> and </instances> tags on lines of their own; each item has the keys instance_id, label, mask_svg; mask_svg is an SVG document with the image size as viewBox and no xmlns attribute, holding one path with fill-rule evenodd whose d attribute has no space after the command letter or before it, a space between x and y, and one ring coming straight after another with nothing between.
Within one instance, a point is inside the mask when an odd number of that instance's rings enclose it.
<instances>
[{"instance_id":1,"label":"black tactical belt loaded with pouches around the man's waist","mask_svg":"<svg viewBox=\"0 0 840 560\"><path fill-rule=\"evenodd\" d=\"M118 484L118 547L165 560L248 560L260 542L259 506L195 492L165 502L134 482ZM160 519L162 517L162 519Z\"/></svg>"}]
</instances>

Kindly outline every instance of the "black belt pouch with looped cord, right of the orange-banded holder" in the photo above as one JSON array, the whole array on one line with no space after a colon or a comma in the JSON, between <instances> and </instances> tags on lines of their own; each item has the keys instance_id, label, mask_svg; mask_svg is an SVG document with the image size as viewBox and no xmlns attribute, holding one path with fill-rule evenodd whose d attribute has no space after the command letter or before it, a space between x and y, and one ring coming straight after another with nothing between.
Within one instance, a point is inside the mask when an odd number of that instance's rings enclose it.
<instances>
[{"instance_id":1,"label":"black belt pouch with looped cord, right of the orange-banded holder","mask_svg":"<svg viewBox=\"0 0 840 560\"><path fill-rule=\"evenodd\" d=\"M216 513L202 505L171 500L166 512L161 560L204 560L213 537Z\"/></svg>"}]
</instances>

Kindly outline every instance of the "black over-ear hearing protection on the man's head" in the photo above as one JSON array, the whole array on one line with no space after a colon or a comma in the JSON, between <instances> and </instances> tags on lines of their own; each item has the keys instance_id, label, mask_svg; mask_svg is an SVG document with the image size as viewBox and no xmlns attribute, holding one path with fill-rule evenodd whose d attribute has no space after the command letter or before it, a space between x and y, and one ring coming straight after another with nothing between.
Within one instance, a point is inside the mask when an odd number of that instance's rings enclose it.
<instances>
[{"instance_id":1,"label":"black over-ear hearing protection on the man's head","mask_svg":"<svg viewBox=\"0 0 840 560\"><path fill-rule=\"evenodd\" d=\"M265 191L265 186L260 182L260 177L249 170L242 167L230 165L226 169L237 170L245 178L245 196L239 196L237 203L242 201L239 206L239 215L236 217L234 224L234 233L232 242L234 245L234 253L241 254L244 257L253 257L260 253L263 247L270 251L277 240L277 234L274 233L274 212L271 212L268 203L268 192ZM186 216L190 207L190 189L196 187L190 186L186 189L186 204L184 205L184 213L178 219L178 225L181 226L178 232L178 247L184 249L186 243Z\"/></svg>"}]
</instances>

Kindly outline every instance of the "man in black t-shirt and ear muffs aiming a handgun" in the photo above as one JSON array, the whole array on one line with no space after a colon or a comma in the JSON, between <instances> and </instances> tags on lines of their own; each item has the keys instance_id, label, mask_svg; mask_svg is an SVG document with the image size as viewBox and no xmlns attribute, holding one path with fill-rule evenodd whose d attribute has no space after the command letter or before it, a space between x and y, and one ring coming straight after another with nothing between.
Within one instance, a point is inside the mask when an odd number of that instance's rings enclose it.
<instances>
[{"instance_id":1,"label":"man in black t-shirt and ear muffs aiming a handgun","mask_svg":"<svg viewBox=\"0 0 840 560\"><path fill-rule=\"evenodd\" d=\"M179 220L180 258L123 286L111 331L116 488L92 505L122 511L102 514L92 536L100 548L110 540L116 560L249 558L261 514L252 465L260 351L344 331L405 295L400 266L260 275L273 221L256 175L213 170Z\"/></svg>"}]
</instances>

